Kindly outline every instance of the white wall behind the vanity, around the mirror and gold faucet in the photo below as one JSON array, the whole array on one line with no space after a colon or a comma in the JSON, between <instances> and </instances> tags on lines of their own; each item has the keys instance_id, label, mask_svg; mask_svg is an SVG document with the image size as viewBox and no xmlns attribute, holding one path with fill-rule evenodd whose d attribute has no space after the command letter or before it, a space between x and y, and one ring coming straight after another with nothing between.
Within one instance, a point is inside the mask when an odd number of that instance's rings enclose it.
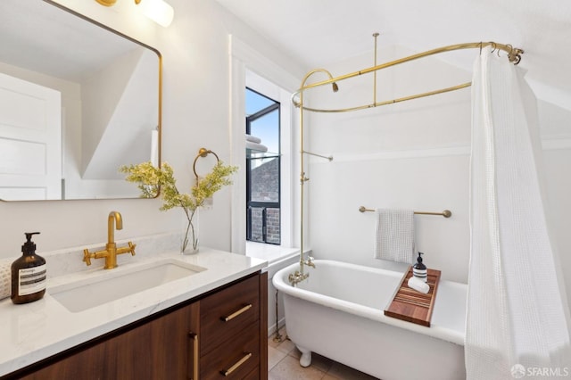
<instances>
[{"instance_id":1,"label":"white wall behind the vanity, around the mirror and gold faucet","mask_svg":"<svg viewBox=\"0 0 571 380\"><path fill-rule=\"evenodd\" d=\"M133 2L120 1L112 8L95 1L59 2L161 52L162 158L174 167L181 188L190 186L192 161L200 147L213 150L229 162L229 34L239 36L297 76L302 75L289 57L211 0L169 0L175 18L167 29L139 14ZM211 210L201 212L202 244L230 249L230 195L230 188L220 191L214 196ZM0 202L0 257L21 254L24 232L30 231L42 233L34 239L38 253L103 243L107 215L112 210L123 215L123 229L115 234L117 240L178 231L181 213L159 211L160 206L159 200L139 199Z\"/></svg>"}]
</instances>

